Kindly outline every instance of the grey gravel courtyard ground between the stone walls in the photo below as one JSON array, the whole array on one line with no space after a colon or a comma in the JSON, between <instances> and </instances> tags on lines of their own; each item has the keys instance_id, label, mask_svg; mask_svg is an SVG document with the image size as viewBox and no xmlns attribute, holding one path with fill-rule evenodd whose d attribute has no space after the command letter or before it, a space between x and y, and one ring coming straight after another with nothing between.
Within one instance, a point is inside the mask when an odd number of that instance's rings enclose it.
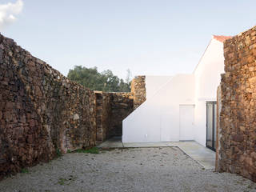
<instances>
[{"instance_id":1,"label":"grey gravel courtyard ground between the stone walls","mask_svg":"<svg viewBox=\"0 0 256 192\"><path fill-rule=\"evenodd\" d=\"M219 174L176 147L65 154L0 182L0 191L256 191L256 183Z\"/></svg>"}]
</instances>

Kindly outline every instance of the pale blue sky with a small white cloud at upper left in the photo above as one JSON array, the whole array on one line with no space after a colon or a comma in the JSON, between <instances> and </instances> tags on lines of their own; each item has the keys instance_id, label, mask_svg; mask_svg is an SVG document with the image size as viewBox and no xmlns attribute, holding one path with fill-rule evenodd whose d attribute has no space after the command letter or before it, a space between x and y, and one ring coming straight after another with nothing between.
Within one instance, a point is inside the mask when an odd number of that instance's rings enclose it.
<instances>
[{"instance_id":1,"label":"pale blue sky with a small white cloud at upper left","mask_svg":"<svg viewBox=\"0 0 256 192\"><path fill-rule=\"evenodd\" d=\"M256 25L255 0L0 0L0 33L62 74L192 73L213 34Z\"/></svg>"}]
</instances>

